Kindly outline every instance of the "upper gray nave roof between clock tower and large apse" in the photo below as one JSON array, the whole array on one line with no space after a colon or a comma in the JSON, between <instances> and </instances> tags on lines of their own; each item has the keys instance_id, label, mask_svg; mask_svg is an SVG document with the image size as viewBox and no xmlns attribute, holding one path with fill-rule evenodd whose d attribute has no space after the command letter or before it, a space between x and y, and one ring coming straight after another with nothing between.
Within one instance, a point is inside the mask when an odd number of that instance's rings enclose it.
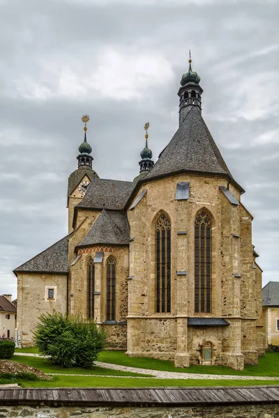
<instances>
[{"instance_id":1,"label":"upper gray nave roof between clock tower and large apse","mask_svg":"<svg viewBox=\"0 0 279 418\"><path fill-rule=\"evenodd\" d=\"M77 208L122 210L135 187L131 181L94 178Z\"/></svg>"}]
</instances>

